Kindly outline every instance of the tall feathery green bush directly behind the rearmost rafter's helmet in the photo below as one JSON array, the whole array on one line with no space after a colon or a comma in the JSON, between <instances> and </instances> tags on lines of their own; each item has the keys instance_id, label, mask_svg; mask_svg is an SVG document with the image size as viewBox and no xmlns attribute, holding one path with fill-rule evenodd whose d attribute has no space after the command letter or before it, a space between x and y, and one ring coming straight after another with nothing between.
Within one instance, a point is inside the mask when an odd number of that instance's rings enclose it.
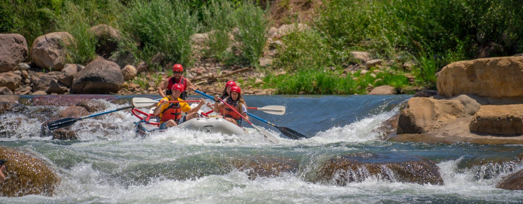
<instances>
[{"instance_id":1,"label":"tall feathery green bush directly behind the rearmost rafter's helmet","mask_svg":"<svg viewBox=\"0 0 523 204\"><path fill-rule=\"evenodd\" d=\"M167 62L189 64L190 37L198 29L198 21L183 1L131 1L122 12L120 28L122 51L130 52L146 62L162 54Z\"/></svg>"}]
</instances>

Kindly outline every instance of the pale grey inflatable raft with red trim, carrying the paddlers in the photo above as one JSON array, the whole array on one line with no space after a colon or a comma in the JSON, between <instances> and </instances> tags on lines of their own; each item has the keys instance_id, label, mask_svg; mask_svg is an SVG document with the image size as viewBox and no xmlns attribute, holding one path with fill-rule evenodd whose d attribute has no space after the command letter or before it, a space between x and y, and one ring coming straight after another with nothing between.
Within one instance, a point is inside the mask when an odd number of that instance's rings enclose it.
<instances>
[{"instance_id":1,"label":"pale grey inflatable raft with red trim, carrying the paddlers","mask_svg":"<svg viewBox=\"0 0 523 204\"><path fill-rule=\"evenodd\" d=\"M137 126L136 131L137 135L144 137L147 134L153 133L155 131L165 131L158 128L159 123L157 123L156 118L152 117L153 115L146 114L138 109L132 109L132 113L137 116L140 121L134 122ZM146 117L141 117L138 113L145 115ZM221 133L225 135L245 135L248 134L247 131L237 126L226 119L220 117L198 117L190 119L182 124L179 124L170 128L186 128L190 130L203 131L207 133Z\"/></svg>"}]
</instances>

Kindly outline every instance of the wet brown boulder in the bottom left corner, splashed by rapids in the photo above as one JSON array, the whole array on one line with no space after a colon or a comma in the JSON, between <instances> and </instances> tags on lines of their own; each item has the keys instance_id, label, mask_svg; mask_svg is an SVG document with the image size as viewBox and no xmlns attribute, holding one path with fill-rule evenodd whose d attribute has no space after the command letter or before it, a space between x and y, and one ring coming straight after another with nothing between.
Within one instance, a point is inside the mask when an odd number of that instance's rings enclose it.
<instances>
[{"instance_id":1,"label":"wet brown boulder in the bottom left corner, splashed by rapids","mask_svg":"<svg viewBox=\"0 0 523 204\"><path fill-rule=\"evenodd\" d=\"M0 158L7 160L6 179L0 182L0 196L53 196L54 189L60 184L60 177L48 164L28 151L0 147Z\"/></svg>"}]
</instances>

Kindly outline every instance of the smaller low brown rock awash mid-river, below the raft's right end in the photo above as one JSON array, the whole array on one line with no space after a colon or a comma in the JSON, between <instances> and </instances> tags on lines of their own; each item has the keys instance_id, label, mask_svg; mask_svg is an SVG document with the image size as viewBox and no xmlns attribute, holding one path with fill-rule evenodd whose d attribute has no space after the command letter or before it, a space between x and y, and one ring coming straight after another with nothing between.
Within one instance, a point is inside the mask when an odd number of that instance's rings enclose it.
<instances>
[{"instance_id":1,"label":"smaller low brown rock awash mid-river, below the raft's right end","mask_svg":"<svg viewBox=\"0 0 523 204\"><path fill-rule=\"evenodd\" d=\"M234 158L231 160L231 165L239 171L247 171L249 179L256 179L258 176L275 177L281 173L296 173L299 167L296 160L277 157Z\"/></svg>"}]
</instances>

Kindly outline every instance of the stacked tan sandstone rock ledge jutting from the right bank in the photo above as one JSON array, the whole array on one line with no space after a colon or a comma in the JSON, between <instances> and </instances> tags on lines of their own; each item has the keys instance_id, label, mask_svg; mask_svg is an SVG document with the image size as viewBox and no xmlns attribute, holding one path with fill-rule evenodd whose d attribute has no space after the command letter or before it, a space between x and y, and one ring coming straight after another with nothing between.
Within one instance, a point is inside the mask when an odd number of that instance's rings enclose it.
<instances>
[{"instance_id":1,"label":"stacked tan sandstone rock ledge jutting from the right bank","mask_svg":"<svg viewBox=\"0 0 523 204\"><path fill-rule=\"evenodd\" d=\"M408 100L385 140L523 144L523 57L452 63L437 80L440 95Z\"/></svg>"}]
</instances>

